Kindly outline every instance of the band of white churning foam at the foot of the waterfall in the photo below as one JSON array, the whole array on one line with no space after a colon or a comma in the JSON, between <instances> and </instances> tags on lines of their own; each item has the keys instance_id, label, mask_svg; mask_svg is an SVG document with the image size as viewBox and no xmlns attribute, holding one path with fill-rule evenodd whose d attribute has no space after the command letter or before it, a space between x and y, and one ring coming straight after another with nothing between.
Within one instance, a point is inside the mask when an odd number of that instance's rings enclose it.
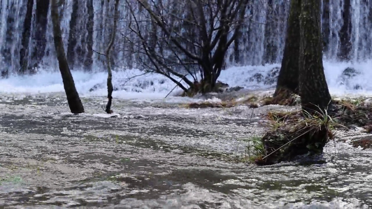
<instances>
[{"instance_id":1,"label":"band of white churning foam at the foot of the waterfall","mask_svg":"<svg viewBox=\"0 0 372 209\"><path fill-rule=\"evenodd\" d=\"M262 83L249 81L255 73L262 73L264 76L274 67L280 67L280 64L265 66L244 66L230 67L222 71L218 80L233 86L241 86L246 89L267 89ZM340 84L340 75L347 67L355 68L360 71L359 75L350 78L349 86ZM327 79L328 88L331 94L344 95L372 95L372 61L360 63L344 63L324 61L324 72ZM105 72L86 73L83 71L72 72L76 88L82 97L106 96L106 79ZM174 88L175 84L168 78L160 74L148 73L141 75L143 72L137 69L123 70L113 72L113 86L118 90L113 92L113 97L123 99L140 99L140 100L159 100ZM140 75L135 77L136 75ZM129 79L131 78L131 79ZM177 80L179 80L177 78ZM183 83L183 82L182 82ZM359 85L362 89L354 90L352 87ZM94 91L89 91L94 88ZM176 93L180 92L176 87L167 100L174 100ZM48 72L40 70L35 75L17 76L11 75L7 79L0 80L0 93L55 93L64 92L60 72ZM177 99L176 99L177 100ZM179 99L178 99L179 100Z\"/></svg>"}]
</instances>

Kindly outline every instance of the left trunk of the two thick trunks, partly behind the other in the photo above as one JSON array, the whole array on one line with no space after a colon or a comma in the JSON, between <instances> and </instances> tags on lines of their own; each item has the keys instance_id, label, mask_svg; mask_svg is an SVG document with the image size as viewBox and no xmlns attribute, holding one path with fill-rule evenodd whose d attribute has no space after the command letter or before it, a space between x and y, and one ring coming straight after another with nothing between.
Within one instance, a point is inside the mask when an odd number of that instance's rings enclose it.
<instances>
[{"instance_id":1,"label":"left trunk of the two thick trunks, partly behind the other","mask_svg":"<svg viewBox=\"0 0 372 209\"><path fill-rule=\"evenodd\" d=\"M299 37L300 25L299 15L301 12L301 1L291 0L288 26L284 45L282 66L278 75L278 83L274 96L278 95L283 89L298 92L298 59L299 59Z\"/></svg>"}]
</instances>

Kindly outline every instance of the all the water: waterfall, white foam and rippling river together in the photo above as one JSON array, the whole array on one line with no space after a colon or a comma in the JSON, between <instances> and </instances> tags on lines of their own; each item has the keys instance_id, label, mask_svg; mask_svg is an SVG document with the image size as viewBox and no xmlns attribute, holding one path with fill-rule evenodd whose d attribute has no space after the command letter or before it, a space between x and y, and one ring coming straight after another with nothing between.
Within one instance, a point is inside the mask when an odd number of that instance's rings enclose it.
<instances>
[{"instance_id":1,"label":"all the water: waterfall, white foam and rippling river together","mask_svg":"<svg viewBox=\"0 0 372 209\"><path fill-rule=\"evenodd\" d=\"M322 4L323 35L329 23L329 32L324 35L328 40L324 50L325 76L332 94L371 96L372 63L368 61L372 55L371 1L351 1L349 35L353 62L331 62L340 51L339 31L346 1L323 1L329 2L328 18L324 18L327 14ZM0 0L2 72L19 70L26 2ZM110 18L106 15L113 1L90 2L94 8L93 49L102 52L109 37ZM268 8L269 2L273 2L273 9ZM61 3L62 38L67 47L73 1ZM252 1L247 11L250 19L242 29L238 47L241 65L280 62L288 9L288 0ZM83 44L87 39L87 10L88 4L78 1L78 37L72 49L77 54L86 47ZM267 14L268 11L273 13ZM36 16L36 3L32 15ZM123 5L121 15L127 15ZM0 79L0 209L372 206L371 150L353 148L343 142L345 135L360 135L360 131L336 132L337 140L327 144L322 156L310 160L299 158L264 167L238 161L247 155L250 139L262 135L267 128L263 115L270 109L288 107L260 107L254 110L253 117L252 109L243 106L187 109L185 103L201 99L174 97L179 88L164 99L174 83L157 74L138 76L143 72L131 69L113 73L117 90L113 93L113 109L117 115L108 118L101 108L107 93L102 68L94 73L73 71L86 113L67 113L61 75L55 73L57 60L49 14L47 18L45 41L39 36L41 32L35 30L36 18L32 19L26 50L31 59L35 51L36 55L42 54L35 60L45 69L40 68L35 75L10 73L9 78ZM271 24L273 18L275 24ZM263 23L270 23L266 24L270 25L267 30ZM125 21L119 22L119 28L126 26ZM128 46L123 43L120 37L115 43L114 61L118 68L126 67L132 56L126 54ZM273 49L271 60L264 60L267 43ZM234 53L230 50L228 55ZM94 53L93 70L99 69L100 64L102 59ZM232 87L244 87L248 92L262 91L273 86L250 78L256 73L265 75L273 67L280 65L232 67L222 71L219 80ZM341 79L346 67L359 72L347 83Z\"/></svg>"}]
</instances>

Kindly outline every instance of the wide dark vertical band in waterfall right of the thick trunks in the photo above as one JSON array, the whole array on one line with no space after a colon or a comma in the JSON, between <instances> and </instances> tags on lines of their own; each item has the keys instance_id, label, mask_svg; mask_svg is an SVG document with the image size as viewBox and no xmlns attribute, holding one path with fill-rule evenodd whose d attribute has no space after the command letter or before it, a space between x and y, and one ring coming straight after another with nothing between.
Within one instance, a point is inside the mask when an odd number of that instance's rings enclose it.
<instances>
[{"instance_id":1,"label":"wide dark vertical band in waterfall right of the thick trunks","mask_svg":"<svg viewBox=\"0 0 372 209\"><path fill-rule=\"evenodd\" d=\"M352 24L351 24L351 0L344 0L344 7L342 11L342 19L344 21L340 32L340 48L338 58L341 61L350 60L350 52L352 51L351 43L351 33L352 33Z\"/></svg>"}]
</instances>

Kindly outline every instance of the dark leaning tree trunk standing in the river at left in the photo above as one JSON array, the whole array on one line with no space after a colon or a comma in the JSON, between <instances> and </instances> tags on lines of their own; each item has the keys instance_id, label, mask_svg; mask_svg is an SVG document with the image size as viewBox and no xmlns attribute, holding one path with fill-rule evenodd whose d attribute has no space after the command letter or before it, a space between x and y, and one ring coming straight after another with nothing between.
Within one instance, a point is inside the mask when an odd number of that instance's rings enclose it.
<instances>
[{"instance_id":1,"label":"dark leaning tree trunk standing in the river at left","mask_svg":"<svg viewBox=\"0 0 372 209\"><path fill-rule=\"evenodd\" d=\"M51 18L53 23L54 47L57 53L58 64L60 67L63 86L67 96L68 106L72 113L83 113L84 107L81 103L79 94L77 93L74 78L71 75L68 67L65 49L62 41L61 23L58 17L57 0L51 0Z\"/></svg>"}]
</instances>

